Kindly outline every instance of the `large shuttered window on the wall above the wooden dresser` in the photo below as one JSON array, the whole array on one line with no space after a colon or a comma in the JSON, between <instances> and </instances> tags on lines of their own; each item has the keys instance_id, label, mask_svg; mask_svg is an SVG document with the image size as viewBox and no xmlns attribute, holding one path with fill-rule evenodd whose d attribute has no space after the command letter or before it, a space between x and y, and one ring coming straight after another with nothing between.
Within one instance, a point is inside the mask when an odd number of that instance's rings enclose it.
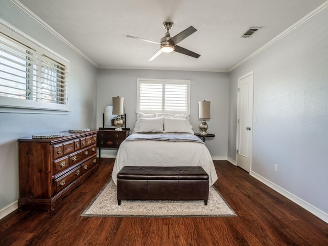
<instances>
[{"instance_id":1,"label":"large shuttered window on the wall above the wooden dresser","mask_svg":"<svg viewBox=\"0 0 328 246\"><path fill-rule=\"evenodd\" d=\"M68 61L1 24L0 107L68 110Z\"/></svg>"}]
</instances>

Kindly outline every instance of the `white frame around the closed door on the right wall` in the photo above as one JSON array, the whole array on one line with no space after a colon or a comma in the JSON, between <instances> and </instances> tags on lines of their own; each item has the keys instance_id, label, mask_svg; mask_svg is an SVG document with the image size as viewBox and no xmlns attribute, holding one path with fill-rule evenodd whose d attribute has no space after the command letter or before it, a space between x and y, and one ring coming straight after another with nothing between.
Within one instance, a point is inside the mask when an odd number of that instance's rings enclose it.
<instances>
[{"instance_id":1,"label":"white frame around the closed door on the right wall","mask_svg":"<svg viewBox=\"0 0 328 246\"><path fill-rule=\"evenodd\" d=\"M237 130L236 130L236 166L238 166L238 153L237 153L237 150L238 150L238 143L239 143L239 122L238 122L238 117L239 117L239 93L238 93L238 89L239 89L239 84L240 84L240 80L245 78L245 77L248 77L252 75L253 76L253 81L252 81L252 88L251 88L251 91L249 93L250 95L250 98L253 102L252 104L252 109L251 109L251 112L252 112L252 122L251 122L251 146L250 146L250 172L252 171L252 154L253 154L253 109L254 109L254 70L247 73L247 74L244 74L243 76L239 77L238 78L238 84L237 84L237 118L236 118L236 122L237 122Z\"/></svg>"}]
</instances>

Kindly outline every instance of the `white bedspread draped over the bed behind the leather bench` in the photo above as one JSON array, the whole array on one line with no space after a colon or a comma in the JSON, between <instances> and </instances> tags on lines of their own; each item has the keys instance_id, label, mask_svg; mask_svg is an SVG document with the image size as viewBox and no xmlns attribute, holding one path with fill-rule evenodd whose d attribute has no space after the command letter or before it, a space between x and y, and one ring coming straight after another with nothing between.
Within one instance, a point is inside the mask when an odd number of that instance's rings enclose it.
<instances>
[{"instance_id":1,"label":"white bedspread draped over the bed behind the leather bench","mask_svg":"<svg viewBox=\"0 0 328 246\"><path fill-rule=\"evenodd\" d=\"M217 180L211 154L206 145L179 141L123 141L118 149L112 172L116 185L117 173L124 166L200 166L209 174L210 186Z\"/></svg>"}]
</instances>

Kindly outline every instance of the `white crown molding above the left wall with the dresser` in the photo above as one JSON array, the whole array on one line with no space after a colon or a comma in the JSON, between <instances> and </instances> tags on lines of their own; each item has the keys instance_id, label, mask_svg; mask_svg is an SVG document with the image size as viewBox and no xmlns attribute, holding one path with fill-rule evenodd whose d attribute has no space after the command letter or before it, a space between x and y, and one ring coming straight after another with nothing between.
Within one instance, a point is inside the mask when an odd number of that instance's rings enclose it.
<instances>
[{"instance_id":1,"label":"white crown molding above the left wall with the dresser","mask_svg":"<svg viewBox=\"0 0 328 246\"><path fill-rule=\"evenodd\" d=\"M55 37L57 37L59 40L64 42L66 45L68 45L70 48L72 48L74 51L76 51L80 56L84 57L86 60L89 61L93 66L96 68L99 68L98 65L90 59L88 56L86 56L83 52L81 52L79 49L77 49L74 45L72 45L65 37L60 35L55 29L53 29L51 26L49 26L46 22L44 22L43 19L38 17L36 14L34 14L30 9L28 9L25 5L20 3L18 0L9 0L12 4L17 6L20 10L22 10L24 13L26 13L28 16L30 16L37 24L45 28L48 32L53 34Z\"/></svg>"}]
</instances>

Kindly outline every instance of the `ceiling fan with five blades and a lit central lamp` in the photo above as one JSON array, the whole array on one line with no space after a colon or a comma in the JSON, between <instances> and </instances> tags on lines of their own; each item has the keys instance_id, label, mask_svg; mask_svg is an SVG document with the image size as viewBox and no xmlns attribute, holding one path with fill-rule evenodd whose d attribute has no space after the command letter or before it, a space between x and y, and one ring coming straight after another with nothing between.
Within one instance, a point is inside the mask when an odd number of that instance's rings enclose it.
<instances>
[{"instance_id":1,"label":"ceiling fan with five blades and a lit central lamp","mask_svg":"<svg viewBox=\"0 0 328 246\"><path fill-rule=\"evenodd\" d=\"M180 43L183 39L185 39L186 37L188 37L191 34L193 34L194 32L196 32L197 29L194 28L193 26L190 26L187 29L180 32L179 34L175 35L174 37L171 37L170 36L170 30L171 30L172 26L173 26L172 22L163 23L163 27L166 30L166 34L165 34L165 36L163 36L160 39L160 43L154 42L154 41L151 41L151 40L147 40L147 39L144 39L144 38L140 38L140 37L130 36L130 35L127 35L127 37L132 37L132 38L140 39L142 41L146 41L148 43L153 43L153 44L160 45L160 49L149 60L155 59L162 52L171 53L173 51L184 54L184 55L189 55L189 56L198 58L200 56L199 54L196 54L195 52L192 52L190 50L187 50L185 48L177 46L178 43Z\"/></svg>"}]
</instances>

